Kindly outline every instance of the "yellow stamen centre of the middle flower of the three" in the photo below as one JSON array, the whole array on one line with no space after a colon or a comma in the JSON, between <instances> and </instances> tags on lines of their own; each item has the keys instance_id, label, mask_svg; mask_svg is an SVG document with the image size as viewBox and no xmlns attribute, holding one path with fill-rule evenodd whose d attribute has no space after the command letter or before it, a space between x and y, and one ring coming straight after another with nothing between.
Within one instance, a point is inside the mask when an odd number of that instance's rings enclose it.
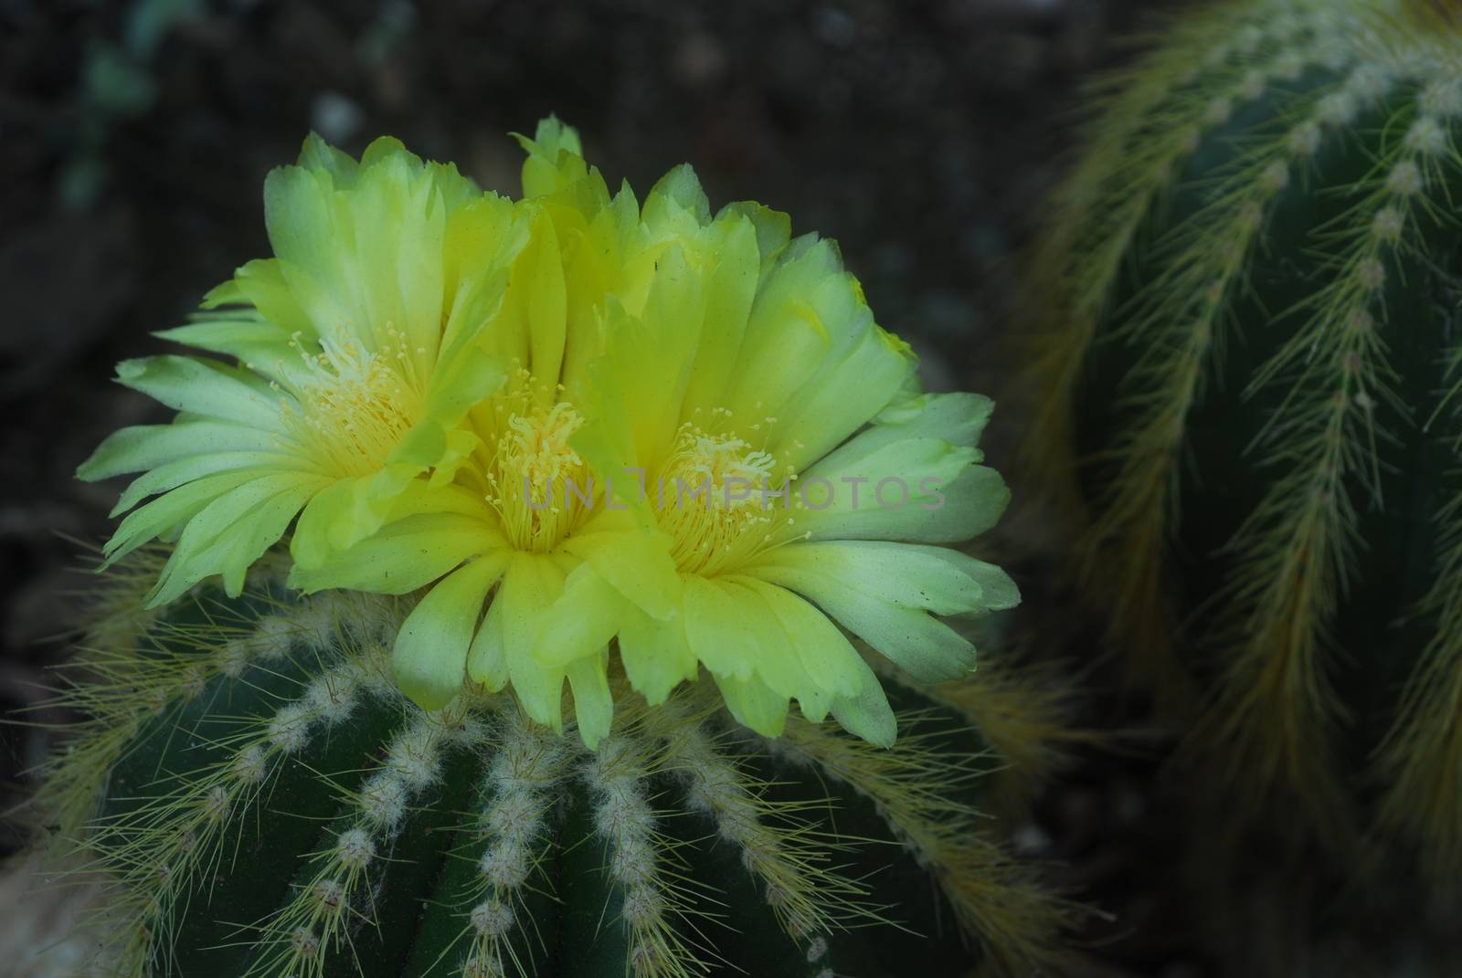
<instances>
[{"instance_id":1,"label":"yellow stamen centre of the middle flower of the three","mask_svg":"<svg viewBox=\"0 0 1462 978\"><path fill-rule=\"evenodd\" d=\"M563 401L534 406L534 392L531 377L520 371L493 398L496 437L482 439L488 450L485 499L513 547L547 553L582 522L599 487L569 444L583 415ZM484 425L478 427L484 434Z\"/></svg>"}]
</instances>

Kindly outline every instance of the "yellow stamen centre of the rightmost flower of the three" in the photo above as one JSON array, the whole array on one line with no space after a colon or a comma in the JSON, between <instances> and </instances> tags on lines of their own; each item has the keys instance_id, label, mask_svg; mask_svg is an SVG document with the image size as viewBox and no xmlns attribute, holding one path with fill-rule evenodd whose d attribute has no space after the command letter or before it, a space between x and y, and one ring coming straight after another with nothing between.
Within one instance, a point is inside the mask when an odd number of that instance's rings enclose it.
<instances>
[{"instance_id":1,"label":"yellow stamen centre of the rightmost flower of the three","mask_svg":"<svg viewBox=\"0 0 1462 978\"><path fill-rule=\"evenodd\" d=\"M711 576L772 545L773 529L792 522L787 493L795 478L789 465L735 434L681 425L655 482L655 510L675 541L675 564Z\"/></svg>"}]
</instances>

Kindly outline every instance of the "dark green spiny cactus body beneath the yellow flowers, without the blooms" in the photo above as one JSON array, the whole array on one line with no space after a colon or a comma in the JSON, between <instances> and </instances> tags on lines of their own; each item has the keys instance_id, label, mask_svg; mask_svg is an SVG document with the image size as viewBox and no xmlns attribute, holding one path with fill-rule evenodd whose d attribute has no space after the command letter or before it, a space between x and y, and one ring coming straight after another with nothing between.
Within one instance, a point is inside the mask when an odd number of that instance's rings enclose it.
<instances>
[{"instance_id":1,"label":"dark green spiny cactus body beneath the yellow flowers, without the blooms","mask_svg":"<svg viewBox=\"0 0 1462 978\"><path fill-rule=\"evenodd\" d=\"M265 567L241 599L108 604L42 798L57 846L117 880L96 974L1063 969L1066 905L975 825L987 744L1058 722L994 670L898 687L893 750L797 716L757 738L694 683L621 690L591 753L510 696L414 706L390 599L300 599Z\"/></svg>"}]
</instances>

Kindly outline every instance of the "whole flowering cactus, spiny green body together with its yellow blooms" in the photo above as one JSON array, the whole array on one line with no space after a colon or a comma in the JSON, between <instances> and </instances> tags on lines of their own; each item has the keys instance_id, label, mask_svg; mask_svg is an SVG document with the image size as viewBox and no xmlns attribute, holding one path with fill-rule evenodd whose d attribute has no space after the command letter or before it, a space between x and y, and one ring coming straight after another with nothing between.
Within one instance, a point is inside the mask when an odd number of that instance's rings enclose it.
<instances>
[{"instance_id":1,"label":"whole flowering cactus, spiny green body together with its yellow blooms","mask_svg":"<svg viewBox=\"0 0 1462 978\"><path fill-rule=\"evenodd\" d=\"M975 816L1054 725L971 680L961 623L1019 599L949 545L1007 499L990 401L925 393L787 215L522 145L510 200L308 139L275 257L165 333L215 357L120 364L178 414L79 471L139 474L102 561L139 586L42 798L115 877L101 959L1054 969L1064 905Z\"/></svg>"}]
</instances>

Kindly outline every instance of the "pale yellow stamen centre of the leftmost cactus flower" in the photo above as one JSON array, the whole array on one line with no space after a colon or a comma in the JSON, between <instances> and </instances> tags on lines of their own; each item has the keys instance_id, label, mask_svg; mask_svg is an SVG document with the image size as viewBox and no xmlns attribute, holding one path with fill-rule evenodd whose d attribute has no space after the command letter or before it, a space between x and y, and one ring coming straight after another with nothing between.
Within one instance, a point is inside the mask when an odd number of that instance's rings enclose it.
<instances>
[{"instance_id":1,"label":"pale yellow stamen centre of the leftmost cactus flower","mask_svg":"<svg viewBox=\"0 0 1462 978\"><path fill-rule=\"evenodd\" d=\"M421 417L421 395L392 365L389 349L370 352L354 342L320 341L322 352L292 345L304 357L308 383L300 411L285 421L317 450L329 471L368 475L395 450Z\"/></svg>"}]
</instances>

